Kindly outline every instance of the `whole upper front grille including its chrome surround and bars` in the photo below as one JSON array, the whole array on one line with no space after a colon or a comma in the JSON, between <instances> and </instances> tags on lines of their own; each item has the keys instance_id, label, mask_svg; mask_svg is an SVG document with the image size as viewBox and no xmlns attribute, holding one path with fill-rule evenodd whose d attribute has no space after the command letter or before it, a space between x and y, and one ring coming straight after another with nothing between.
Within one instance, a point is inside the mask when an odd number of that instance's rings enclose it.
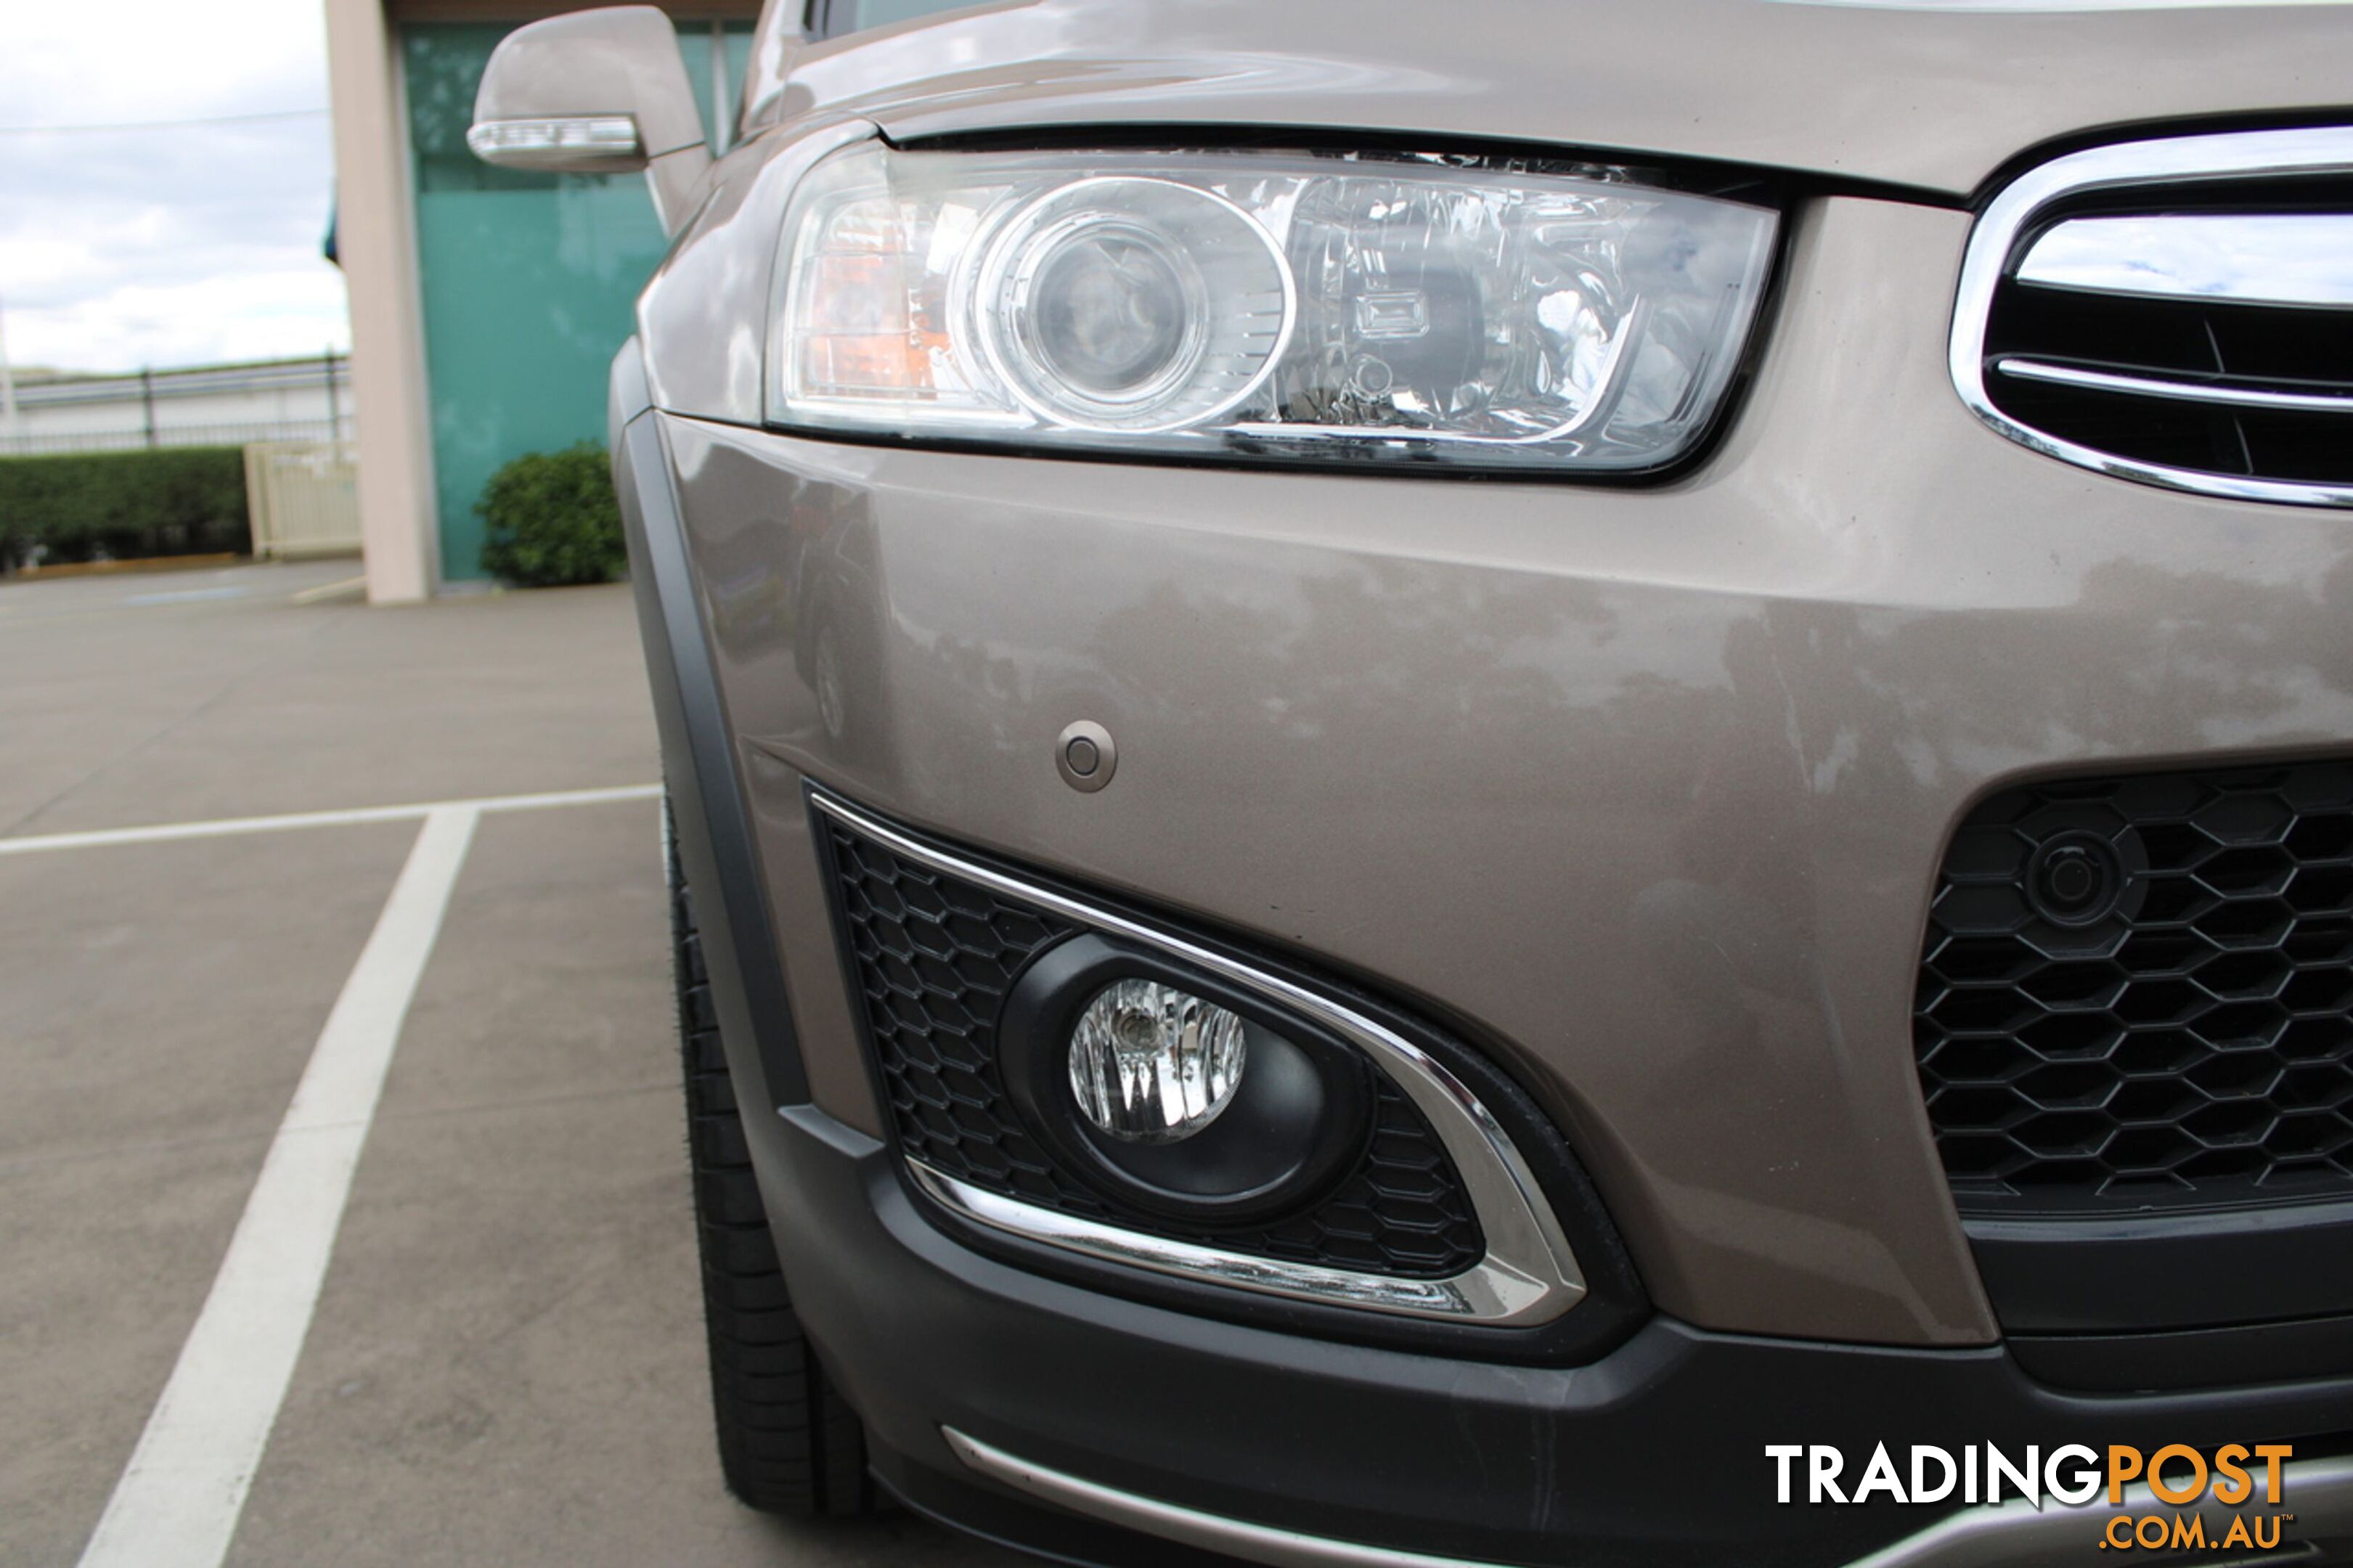
<instances>
[{"instance_id":1,"label":"whole upper front grille including its chrome surround and bars","mask_svg":"<svg viewBox=\"0 0 2353 1568\"><path fill-rule=\"evenodd\" d=\"M2353 506L2353 127L2068 153L1969 235L1953 384L2172 490Z\"/></svg>"}]
</instances>

